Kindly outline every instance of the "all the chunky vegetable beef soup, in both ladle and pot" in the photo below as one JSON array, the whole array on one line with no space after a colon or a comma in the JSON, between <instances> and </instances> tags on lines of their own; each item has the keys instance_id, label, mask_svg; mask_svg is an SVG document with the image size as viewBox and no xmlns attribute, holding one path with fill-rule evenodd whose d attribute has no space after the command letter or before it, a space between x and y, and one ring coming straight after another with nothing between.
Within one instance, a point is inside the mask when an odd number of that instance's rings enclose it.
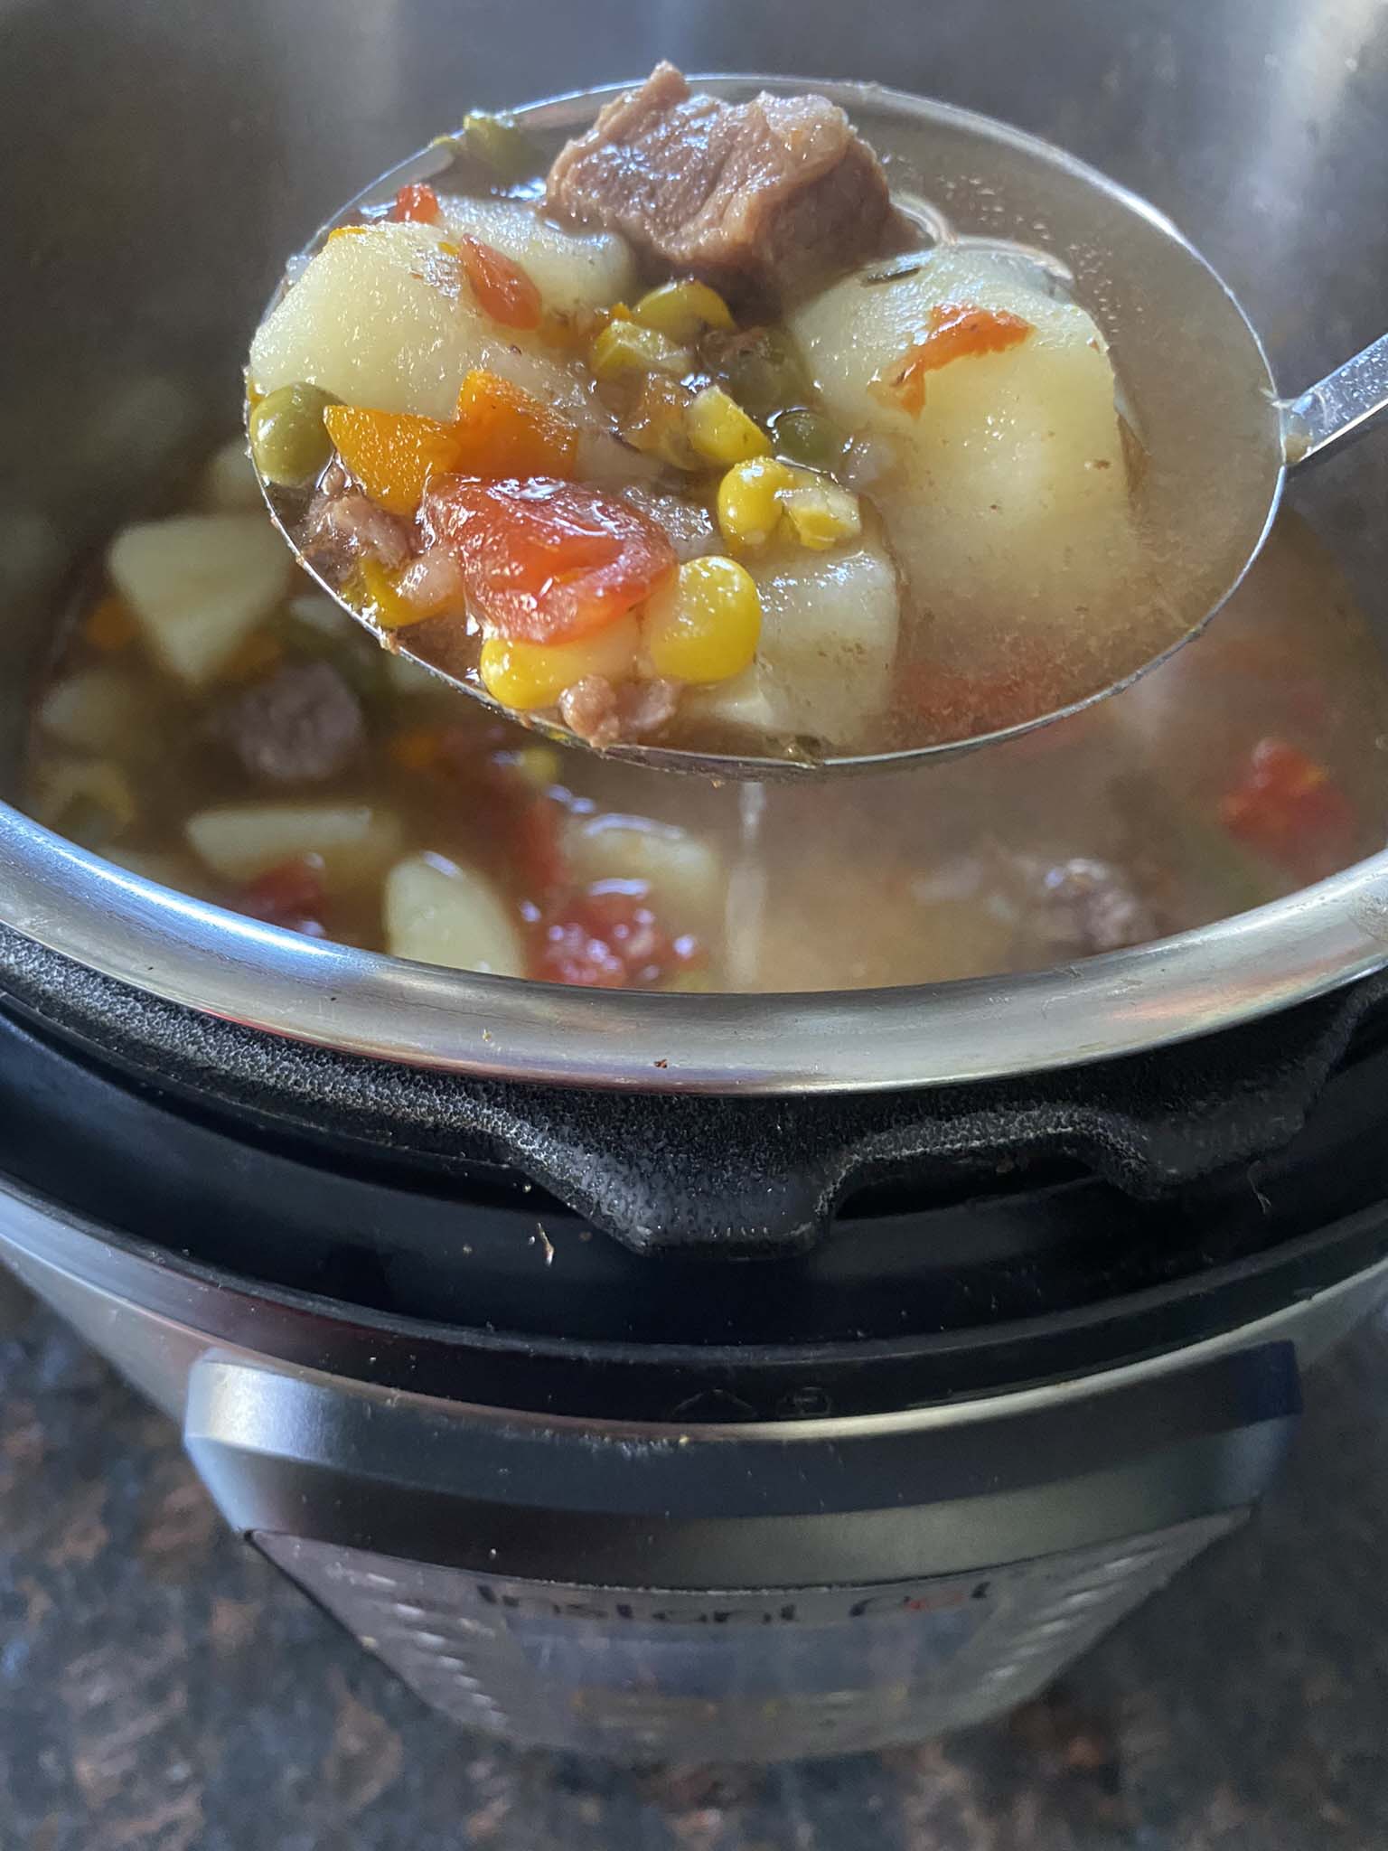
<instances>
[{"instance_id":1,"label":"all the chunky vegetable beef soup, in both ladle and pot","mask_svg":"<svg viewBox=\"0 0 1388 1851\"><path fill-rule=\"evenodd\" d=\"M1159 459L1092 317L912 218L824 98L661 67L550 155L468 117L437 185L335 230L255 335L261 478L379 635L231 439L61 627L41 822L272 926L646 990L1049 966L1381 846L1384 666L1290 515L1199 644L892 776L670 777L403 659L402 633L596 744L812 755L1110 679L1175 572L1142 570Z\"/></svg>"}]
</instances>

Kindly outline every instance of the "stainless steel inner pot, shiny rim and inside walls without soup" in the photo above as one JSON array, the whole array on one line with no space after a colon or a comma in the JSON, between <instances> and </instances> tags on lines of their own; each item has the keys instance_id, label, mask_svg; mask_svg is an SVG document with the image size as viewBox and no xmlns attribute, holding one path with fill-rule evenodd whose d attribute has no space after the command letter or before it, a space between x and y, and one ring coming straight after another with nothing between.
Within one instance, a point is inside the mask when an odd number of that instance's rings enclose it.
<instances>
[{"instance_id":1,"label":"stainless steel inner pot, shiny rim and inside walls without soup","mask_svg":"<svg viewBox=\"0 0 1388 1851\"><path fill-rule=\"evenodd\" d=\"M1377 0L1053 0L1044 15L986 0L883 7L851 31L812 0L618 0L592 17L492 0L0 0L0 31L9 768L65 578L229 428L283 254L468 104L635 76L659 56L890 78L1049 137L1166 209L1266 333L1283 383L1382 326ZM1384 491L1388 453L1369 446L1292 492L1377 620ZM1079 966L814 998L590 996L324 946L155 888L9 809L0 920L137 988L385 1059L607 1087L866 1090L1134 1051L1349 983L1388 961L1388 855Z\"/></svg>"}]
</instances>

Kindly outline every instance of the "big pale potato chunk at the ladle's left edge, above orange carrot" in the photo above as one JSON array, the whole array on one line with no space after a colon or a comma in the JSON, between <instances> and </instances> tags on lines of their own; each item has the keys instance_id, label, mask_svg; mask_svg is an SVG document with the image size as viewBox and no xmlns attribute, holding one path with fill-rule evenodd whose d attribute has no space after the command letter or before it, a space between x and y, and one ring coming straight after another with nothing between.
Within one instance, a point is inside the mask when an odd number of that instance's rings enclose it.
<instances>
[{"instance_id":1,"label":"big pale potato chunk at the ladle's left edge, above orange carrot","mask_svg":"<svg viewBox=\"0 0 1388 1851\"><path fill-rule=\"evenodd\" d=\"M329 237L270 309L250 348L261 392L318 385L348 405L452 418L474 366L581 409L579 379L533 335L477 309L431 226L378 224Z\"/></svg>"}]
</instances>

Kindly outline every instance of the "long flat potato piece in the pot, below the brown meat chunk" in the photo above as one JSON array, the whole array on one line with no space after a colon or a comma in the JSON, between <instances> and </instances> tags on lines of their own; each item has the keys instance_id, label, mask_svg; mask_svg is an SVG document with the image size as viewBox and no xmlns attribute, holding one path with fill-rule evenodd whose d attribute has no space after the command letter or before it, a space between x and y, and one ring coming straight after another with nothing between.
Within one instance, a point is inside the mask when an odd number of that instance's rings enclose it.
<instances>
[{"instance_id":1,"label":"long flat potato piece in the pot, below the brown meat chunk","mask_svg":"<svg viewBox=\"0 0 1388 1851\"><path fill-rule=\"evenodd\" d=\"M400 818L372 803L224 803L189 816L183 835L224 881L254 881L316 855L329 887L365 887L400 853Z\"/></svg>"}]
</instances>

